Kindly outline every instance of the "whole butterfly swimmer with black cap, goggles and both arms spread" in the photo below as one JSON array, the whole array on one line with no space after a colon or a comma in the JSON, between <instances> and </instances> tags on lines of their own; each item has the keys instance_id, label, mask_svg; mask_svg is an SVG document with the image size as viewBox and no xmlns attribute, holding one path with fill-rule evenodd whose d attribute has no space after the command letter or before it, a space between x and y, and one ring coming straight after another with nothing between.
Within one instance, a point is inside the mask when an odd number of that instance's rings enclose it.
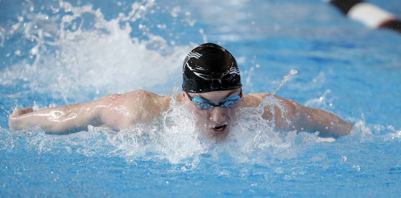
<instances>
[{"instance_id":1,"label":"whole butterfly swimmer with black cap, goggles and both arms spread","mask_svg":"<svg viewBox=\"0 0 401 198\"><path fill-rule=\"evenodd\" d=\"M224 140L236 122L238 110L258 107L269 93L245 94L240 71L233 55L213 43L200 45L185 57L182 66L182 93L176 94L196 116L196 125L206 137ZM275 121L281 130L319 131L322 136L339 137L352 124L333 113L309 108L290 99L275 97L284 107L266 105L262 118ZM87 130L88 125L119 131L137 123L151 123L169 108L171 95L143 90L107 95L85 104L73 104L34 111L17 109L9 118L11 130L40 126L47 132L69 133ZM289 122L288 122L289 121Z\"/></svg>"}]
</instances>

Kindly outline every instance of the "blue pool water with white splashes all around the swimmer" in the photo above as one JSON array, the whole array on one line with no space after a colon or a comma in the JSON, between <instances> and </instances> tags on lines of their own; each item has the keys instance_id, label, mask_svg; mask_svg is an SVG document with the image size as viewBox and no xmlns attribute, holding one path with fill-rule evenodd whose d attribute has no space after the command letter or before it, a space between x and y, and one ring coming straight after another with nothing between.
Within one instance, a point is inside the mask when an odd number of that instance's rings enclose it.
<instances>
[{"instance_id":1,"label":"blue pool water with white splashes all around the swimmer","mask_svg":"<svg viewBox=\"0 0 401 198\"><path fill-rule=\"evenodd\" d=\"M401 18L398 0L369 2ZM272 92L297 70L277 95L339 115L352 133L319 142L243 112L227 141L214 143L177 103L118 133L9 130L15 107L170 94L183 57L204 42L237 58L245 93ZM400 43L317 0L0 0L0 196L397 197Z\"/></svg>"}]
</instances>

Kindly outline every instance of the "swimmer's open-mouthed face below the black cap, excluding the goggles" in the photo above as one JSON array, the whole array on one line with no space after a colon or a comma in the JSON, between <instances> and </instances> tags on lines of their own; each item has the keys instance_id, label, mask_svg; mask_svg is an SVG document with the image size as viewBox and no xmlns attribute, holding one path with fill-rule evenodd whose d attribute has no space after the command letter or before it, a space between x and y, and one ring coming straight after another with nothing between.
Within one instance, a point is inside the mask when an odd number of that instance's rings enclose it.
<instances>
[{"instance_id":1,"label":"swimmer's open-mouthed face below the black cap, excluding the goggles","mask_svg":"<svg viewBox=\"0 0 401 198\"><path fill-rule=\"evenodd\" d=\"M236 98L241 93L241 88L227 91L211 91L205 93L182 93L183 101L189 106L189 108L197 116L197 126L205 134L206 137L211 139L221 141L226 139L232 122L236 118L236 112L238 108L241 107L242 97L238 101L238 104L233 108L225 108L222 106L217 106L209 109L202 110L198 108L192 100L205 100L213 104L219 104L225 99ZM198 98L196 98L198 97Z\"/></svg>"}]
</instances>

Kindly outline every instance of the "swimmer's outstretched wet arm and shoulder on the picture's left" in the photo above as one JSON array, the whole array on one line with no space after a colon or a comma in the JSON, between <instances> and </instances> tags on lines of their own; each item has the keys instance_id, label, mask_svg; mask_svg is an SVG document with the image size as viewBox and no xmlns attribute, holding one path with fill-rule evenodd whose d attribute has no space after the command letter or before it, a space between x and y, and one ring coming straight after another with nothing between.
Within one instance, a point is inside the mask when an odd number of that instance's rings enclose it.
<instances>
[{"instance_id":1,"label":"swimmer's outstretched wet arm and shoulder on the picture's left","mask_svg":"<svg viewBox=\"0 0 401 198\"><path fill-rule=\"evenodd\" d=\"M88 125L115 131L135 123L152 121L167 109L169 96L159 96L143 90L107 95L85 104L74 104L33 111L16 110L9 119L11 130L41 125L48 132L85 130Z\"/></svg>"}]
</instances>

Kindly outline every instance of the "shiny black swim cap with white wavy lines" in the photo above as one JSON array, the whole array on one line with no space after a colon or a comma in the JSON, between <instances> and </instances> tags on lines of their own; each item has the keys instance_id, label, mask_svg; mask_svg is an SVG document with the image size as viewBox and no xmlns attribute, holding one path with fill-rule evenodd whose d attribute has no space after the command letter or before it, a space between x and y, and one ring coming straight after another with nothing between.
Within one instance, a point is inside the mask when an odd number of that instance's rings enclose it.
<instances>
[{"instance_id":1,"label":"shiny black swim cap with white wavy lines","mask_svg":"<svg viewBox=\"0 0 401 198\"><path fill-rule=\"evenodd\" d=\"M221 46L202 44L186 55L182 65L182 91L203 93L240 87L237 61Z\"/></svg>"}]
</instances>

